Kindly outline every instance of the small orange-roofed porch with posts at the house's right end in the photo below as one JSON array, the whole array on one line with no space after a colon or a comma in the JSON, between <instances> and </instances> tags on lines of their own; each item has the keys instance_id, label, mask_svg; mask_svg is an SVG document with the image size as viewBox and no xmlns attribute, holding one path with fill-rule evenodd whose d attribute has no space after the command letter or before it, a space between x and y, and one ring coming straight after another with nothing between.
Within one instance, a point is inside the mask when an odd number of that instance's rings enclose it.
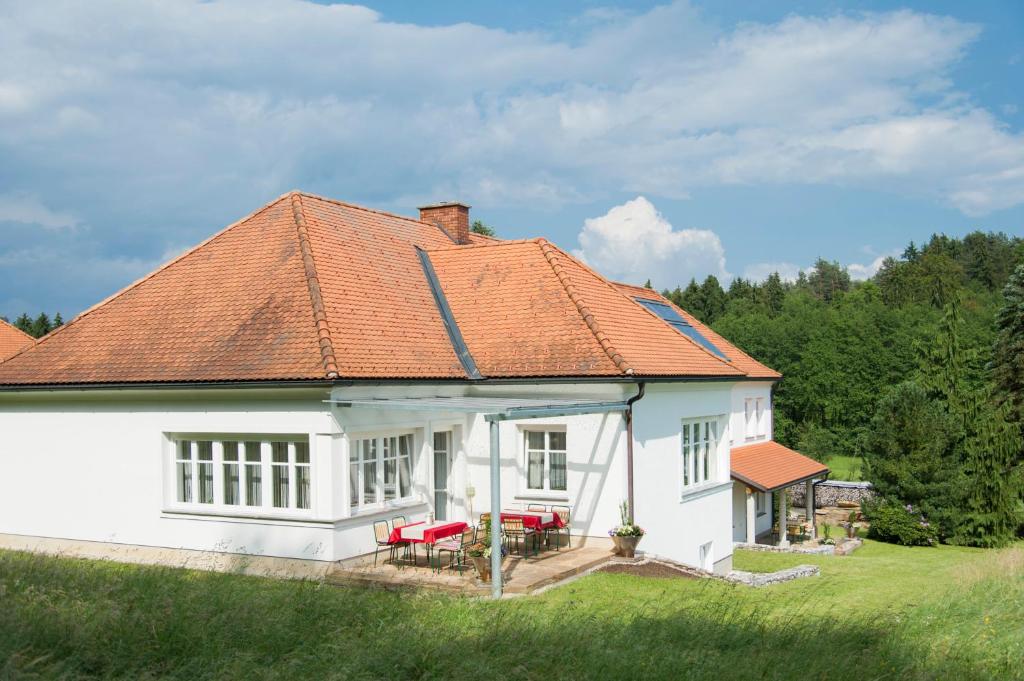
<instances>
[{"instance_id":1,"label":"small orange-roofed porch with posts at the house's right end","mask_svg":"<svg viewBox=\"0 0 1024 681\"><path fill-rule=\"evenodd\" d=\"M733 448L730 455L731 474L736 485L733 527L743 528L739 534L741 541L756 544L777 538L774 540L777 546L787 547L791 535L807 535L814 539L814 480L826 476L828 467L774 440ZM806 485L803 517L791 518L785 490L800 483ZM775 495L777 500L773 511L770 500L774 493L778 494ZM759 496L768 500L768 520L773 520L768 523L762 520L760 527ZM734 531L734 539L736 535Z\"/></svg>"}]
</instances>

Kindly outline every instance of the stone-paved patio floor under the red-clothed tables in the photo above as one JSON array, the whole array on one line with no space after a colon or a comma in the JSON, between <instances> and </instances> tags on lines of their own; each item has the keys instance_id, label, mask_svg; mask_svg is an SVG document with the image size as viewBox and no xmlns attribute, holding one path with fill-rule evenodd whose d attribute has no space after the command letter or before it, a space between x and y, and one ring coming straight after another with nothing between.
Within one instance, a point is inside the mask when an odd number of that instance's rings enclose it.
<instances>
[{"instance_id":1,"label":"stone-paved patio floor under the red-clothed tables","mask_svg":"<svg viewBox=\"0 0 1024 681\"><path fill-rule=\"evenodd\" d=\"M573 542L575 538L573 538ZM374 586L385 589L435 589L449 593L487 596L490 585L476 579L471 563L458 570L449 569L445 555L444 568L438 574L426 565L420 553L419 564L398 560L396 564L384 563L382 552L374 566L373 554L339 561L327 574L331 584ZM562 547L559 551L542 551L540 555L522 558L511 555L505 559L504 591L506 594L530 594L539 589L557 584L571 577L607 562L612 557L610 546L596 542L591 546Z\"/></svg>"}]
</instances>

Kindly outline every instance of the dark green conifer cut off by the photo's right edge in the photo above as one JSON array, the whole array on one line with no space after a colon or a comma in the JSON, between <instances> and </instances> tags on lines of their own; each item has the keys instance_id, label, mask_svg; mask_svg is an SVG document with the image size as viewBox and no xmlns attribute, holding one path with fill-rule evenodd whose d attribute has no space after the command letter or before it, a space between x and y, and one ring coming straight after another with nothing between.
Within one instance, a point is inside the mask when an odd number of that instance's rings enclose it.
<instances>
[{"instance_id":1,"label":"dark green conifer cut off by the photo's right edge","mask_svg":"<svg viewBox=\"0 0 1024 681\"><path fill-rule=\"evenodd\" d=\"M1024 264L1010 276L1002 297L989 367L997 399L1009 402L1014 421L1024 423Z\"/></svg>"}]
</instances>

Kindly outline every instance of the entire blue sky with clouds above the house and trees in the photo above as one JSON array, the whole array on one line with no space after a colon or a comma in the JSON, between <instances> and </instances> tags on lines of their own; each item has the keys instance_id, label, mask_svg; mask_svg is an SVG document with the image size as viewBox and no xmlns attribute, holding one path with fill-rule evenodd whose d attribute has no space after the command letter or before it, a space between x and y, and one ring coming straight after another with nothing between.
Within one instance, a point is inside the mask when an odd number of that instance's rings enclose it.
<instances>
[{"instance_id":1,"label":"entire blue sky with clouds above the house and trees","mask_svg":"<svg viewBox=\"0 0 1024 681\"><path fill-rule=\"evenodd\" d=\"M1024 233L1024 4L0 0L0 314L292 188L658 287Z\"/></svg>"}]
</instances>

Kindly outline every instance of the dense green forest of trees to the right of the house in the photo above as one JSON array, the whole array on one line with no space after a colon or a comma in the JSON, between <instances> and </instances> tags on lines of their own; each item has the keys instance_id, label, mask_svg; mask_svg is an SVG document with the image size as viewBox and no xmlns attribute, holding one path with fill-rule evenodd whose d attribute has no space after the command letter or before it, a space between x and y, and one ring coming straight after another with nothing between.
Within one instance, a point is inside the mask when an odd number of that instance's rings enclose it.
<instances>
[{"instance_id":1,"label":"dense green forest of trees to the right of the house","mask_svg":"<svg viewBox=\"0 0 1024 681\"><path fill-rule=\"evenodd\" d=\"M890 510L989 546L1024 518L1022 263L1019 238L936 235L864 282L819 259L795 282L726 290L709 276L663 293L782 372L777 440L825 462L859 456Z\"/></svg>"}]
</instances>

